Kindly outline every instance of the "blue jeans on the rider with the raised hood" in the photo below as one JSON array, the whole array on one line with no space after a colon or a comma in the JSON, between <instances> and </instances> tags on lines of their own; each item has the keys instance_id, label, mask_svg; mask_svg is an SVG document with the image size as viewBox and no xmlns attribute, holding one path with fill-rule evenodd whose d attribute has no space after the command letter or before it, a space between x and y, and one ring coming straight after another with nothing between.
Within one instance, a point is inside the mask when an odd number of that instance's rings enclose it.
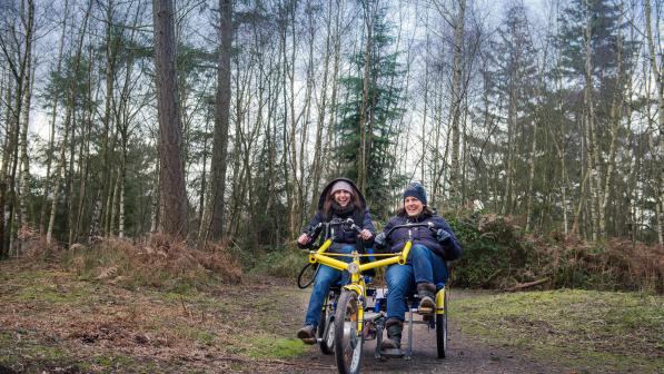
<instances>
[{"instance_id":1,"label":"blue jeans on the rider with the raised hood","mask_svg":"<svg viewBox=\"0 0 664 374\"><path fill-rule=\"evenodd\" d=\"M353 250L355 250L355 245L345 245L335 252L350 254ZM336 258L345 263L350 263L353 260L350 257ZM337 270L327 265L320 265L318 267L316 280L314 280L314 289L311 291L311 296L309 296L307 315L305 316L306 325L318 326L320 324L320 311L323 311L323 303L329 293L329 287L337 284L339 280L341 280L341 285L345 285L348 283L348 272Z\"/></svg>"}]
</instances>

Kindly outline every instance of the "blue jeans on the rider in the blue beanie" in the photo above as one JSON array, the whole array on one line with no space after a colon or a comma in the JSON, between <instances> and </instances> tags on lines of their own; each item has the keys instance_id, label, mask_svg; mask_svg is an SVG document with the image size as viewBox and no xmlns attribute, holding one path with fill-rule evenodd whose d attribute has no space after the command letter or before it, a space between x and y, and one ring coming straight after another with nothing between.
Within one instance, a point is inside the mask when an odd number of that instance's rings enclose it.
<instances>
[{"instance_id":1,"label":"blue jeans on the rider in the blue beanie","mask_svg":"<svg viewBox=\"0 0 664 374\"><path fill-rule=\"evenodd\" d=\"M405 319L406 297L415 293L418 283L433 283L440 288L447 277L447 264L443 258L420 244L414 245L406 265L390 265L385 273L387 318Z\"/></svg>"}]
</instances>

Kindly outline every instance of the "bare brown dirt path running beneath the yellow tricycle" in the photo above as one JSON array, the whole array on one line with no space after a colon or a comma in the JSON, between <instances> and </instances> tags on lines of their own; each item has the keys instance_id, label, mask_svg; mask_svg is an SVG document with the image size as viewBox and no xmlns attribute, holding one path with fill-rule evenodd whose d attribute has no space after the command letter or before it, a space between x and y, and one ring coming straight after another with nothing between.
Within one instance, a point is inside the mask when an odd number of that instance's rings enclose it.
<instances>
[{"instance_id":1,"label":"bare brown dirt path running beneath the yellow tricycle","mask_svg":"<svg viewBox=\"0 0 664 374\"><path fill-rule=\"evenodd\" d=\"M308 291L299 293L301 309L306 308ZM454 295L450 293L452 302L455 297L467 297L467 295ZM297 311L293 311L297 314ZM304 314L300 312L300 314ZM293 316L293 314L291 314ZM425 325L415 325L413 339L413 358L379 361L374 358L376 341L365 342L361 372L363 373L571 373L569 370L555 367L552 363L538 363L529 360L523 352L493 347L463 335L455 323L460 316L452 315L449 318L449 350L447 358L436 357L436 334ZM300 316L301 318L301 316ZM289 318L294 324L294 332L301 322ZM407 341L406 328L403 343ZM311 365L313 368L303 368L299 373L336 373L334 355L324 355L318 346L313 346L308 354L296 360L303 365ZM293 367L295 371L295 367Z\"/></svg>"}]
</instances>

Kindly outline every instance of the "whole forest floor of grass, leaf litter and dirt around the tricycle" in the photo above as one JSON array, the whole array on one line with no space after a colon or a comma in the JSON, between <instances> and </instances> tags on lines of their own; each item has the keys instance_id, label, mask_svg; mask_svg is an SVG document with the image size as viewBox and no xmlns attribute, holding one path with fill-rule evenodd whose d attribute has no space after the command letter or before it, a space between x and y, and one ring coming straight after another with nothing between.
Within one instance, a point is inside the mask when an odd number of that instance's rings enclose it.
<instances>
[{"instance_id":1,"label":"whole forest floor of grass, leaf litter and dirt around the tricycle","mask_svg":"<svg viewBox=\"0 0 664 374\"><path fill-rule=\"evenodd\" d=\"M363 372L664 373L662 296L627 296L626 308L638 309L634 303L652 308L622 317L633 327L613 339L611 328L596 336L584 324L565 329L555 321L544 327L538 322L551 299L583 301L582 294L509 296L516 299L450 294L448 358L435 358L435 334L420 325L412 361L376 361L374 342L367 342ZM0 373L335 373L334 356L294 338L307 297L308 291L291 280L271 277L246 276L239 285L178 294L6 262L0 264ZM521 317L511 314L515 305ZM574 308L586 313L583 305ZM574 313L561 319L577 323ZM618 322L604 315L602 323Z\"/></svg>"}]
</instances>

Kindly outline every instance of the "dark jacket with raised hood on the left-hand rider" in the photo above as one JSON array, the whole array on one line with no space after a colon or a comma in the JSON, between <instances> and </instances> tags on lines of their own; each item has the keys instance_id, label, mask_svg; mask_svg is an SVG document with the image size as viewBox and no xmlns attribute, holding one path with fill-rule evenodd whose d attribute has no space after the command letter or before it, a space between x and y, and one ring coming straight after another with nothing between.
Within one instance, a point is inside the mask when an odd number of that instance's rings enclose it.
<instances>
[{"instance_id":1,"label":"dark jacket with raised hood on the left-hand rider","mask_svg":"<svg viewBox=\"0 0 664 374\"><path fill-rule=\"evenodd\" d=\"M338 211L335 211L334 208L330 208L330 211L326 214L324 211L325 198L327 197L327 195L329 195L329 190L333 187L333 185L338 180L344 180L353 187L354 190L351 193L356 194L359 197L360 206L355 207L353 211L346 214L339 214ZM337 178L330 181L323 189L320 198L318 199L318 210L316 211L316 215L314 215L314 217L309 220L309 223L303 228L303 233L309 234L313 227L316 227L320 223L328 223L334 218L353 218L357 226L361 227L363 229L368 229L371 234L376 233L376 227L374 226L374 222L371 220L371 215L369 214L369 209L367 208L366 200L359 191L359 189L357 188L357 186L355 186L355 184L350 179ZM323 237L323 240L325 239L327 239L327 237ZM355 233L350 228L339 228L336 230L333 242L335 244L355 244L357 243L357 233ZM333 246L333 249L334 247L337 247L337 245Z\"/></svg>"}]
</instances>

